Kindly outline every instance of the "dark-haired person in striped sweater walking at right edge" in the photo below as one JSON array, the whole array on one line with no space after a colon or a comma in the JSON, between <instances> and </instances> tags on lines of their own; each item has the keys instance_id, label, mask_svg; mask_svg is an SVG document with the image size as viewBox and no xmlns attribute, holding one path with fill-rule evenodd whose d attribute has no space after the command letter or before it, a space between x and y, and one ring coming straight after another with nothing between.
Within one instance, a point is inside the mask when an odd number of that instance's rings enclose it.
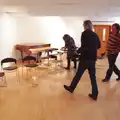
<instances>
[{"instance_id":1,"label":"dark-haired person in striped sweater walking at right edge","mask_svg":"<svg viewBox=\"0 0 120 120\"><path fill-rule=\"evenodd\" d=\"M112 73L115 72L115 74L118 76L116 79L117 81L120 80L120 70L115 65L117 56L120 52L120 26L119 24L115 23L112 25L112 31L109 35L109 40L107 43L107 55L108 55L108 63L109 68L107 70L105 79L103 79L103 82L108 82L112 76Z\"/></svg>"}]
</instances>

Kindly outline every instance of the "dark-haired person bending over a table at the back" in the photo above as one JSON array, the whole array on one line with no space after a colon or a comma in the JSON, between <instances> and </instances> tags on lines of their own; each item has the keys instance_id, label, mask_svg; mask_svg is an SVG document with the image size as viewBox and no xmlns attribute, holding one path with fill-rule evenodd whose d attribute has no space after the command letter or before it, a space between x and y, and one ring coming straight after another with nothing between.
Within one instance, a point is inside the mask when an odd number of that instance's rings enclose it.
<instances>
[{"instance_id":1,"label":"dark-haired person bending over a table at the back","mask_svg":"<svg viewBox=\"0 0 120 120\"><path fill-rule=\"evenodd\" d=\"M65 41L65 48L67 49L67 70L70 70L70 63L71 61L74 62L74 68L76 69L76 46L75 46L75 42L74 39L68 35L65 34L63 36L63 40Z\"/></svg>"}]
</instances>

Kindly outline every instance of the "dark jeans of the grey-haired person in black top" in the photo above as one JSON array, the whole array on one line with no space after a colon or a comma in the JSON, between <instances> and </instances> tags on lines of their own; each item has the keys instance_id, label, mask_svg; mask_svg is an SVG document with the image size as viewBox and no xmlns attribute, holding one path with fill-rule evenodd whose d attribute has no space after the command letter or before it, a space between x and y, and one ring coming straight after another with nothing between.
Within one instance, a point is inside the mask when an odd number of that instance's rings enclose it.
<instances>
[{"instance_id":1,"label":"dark jeans of the grey-haired person in black top","mask_svg":"<svg viewBox=\"0 0 120 120\"><path fill-rule=\"evenodd\" d=\"M73 78L70 88L75 89L78 82L80 81L80 78L82 77L83 73L86 69L89 71L89 76L91 79L91 85L92 85L92 96L97 98L98 96L98 87L96 83L96 61L93 60L81 60L79 62L78 70L76 72L75 77Z\"/></svg>"}]
</instances>

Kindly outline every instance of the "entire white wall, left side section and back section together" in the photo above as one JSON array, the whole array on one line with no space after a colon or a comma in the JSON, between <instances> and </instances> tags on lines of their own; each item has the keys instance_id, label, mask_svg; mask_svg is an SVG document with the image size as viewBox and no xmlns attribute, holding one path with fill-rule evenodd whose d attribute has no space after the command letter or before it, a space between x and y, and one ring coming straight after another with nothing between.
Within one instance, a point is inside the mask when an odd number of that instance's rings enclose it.
<instances>
[{"instance_id":1,"label":"entire white wall, left side section and back section together","mask_svg":"<svg viewBox=\"0 0 120 120\"><path fill-rule=\"evenodd\" d=\"M80 17L30 17L2 15L0 17L0 60L16 57L14 46L19 43L51 43L62 47L62 36L70 34L80 46L82 19ZM18 52L17 52L18 53Z\"/></svg>"}]
</instances>

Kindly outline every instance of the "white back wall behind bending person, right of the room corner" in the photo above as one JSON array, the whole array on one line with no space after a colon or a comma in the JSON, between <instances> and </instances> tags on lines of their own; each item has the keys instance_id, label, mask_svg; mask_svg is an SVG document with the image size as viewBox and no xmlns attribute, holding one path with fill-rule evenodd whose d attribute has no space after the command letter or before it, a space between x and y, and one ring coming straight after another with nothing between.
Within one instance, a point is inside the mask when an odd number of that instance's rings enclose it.
<instances>
[{"instance_id":1,"label":"white back wall behind bending person, right of the room corner","mask_svg":"<svg viewBox=\"0 0 120 120\"><path fill-rule=\"evenodd\" d=\"M76 17L24 17L17 18L18 39L20 43L46 42L54 47L63 46L62 36L65 33L80 42L82 32L81 20Z\"/></svg>"}]
</instances>

